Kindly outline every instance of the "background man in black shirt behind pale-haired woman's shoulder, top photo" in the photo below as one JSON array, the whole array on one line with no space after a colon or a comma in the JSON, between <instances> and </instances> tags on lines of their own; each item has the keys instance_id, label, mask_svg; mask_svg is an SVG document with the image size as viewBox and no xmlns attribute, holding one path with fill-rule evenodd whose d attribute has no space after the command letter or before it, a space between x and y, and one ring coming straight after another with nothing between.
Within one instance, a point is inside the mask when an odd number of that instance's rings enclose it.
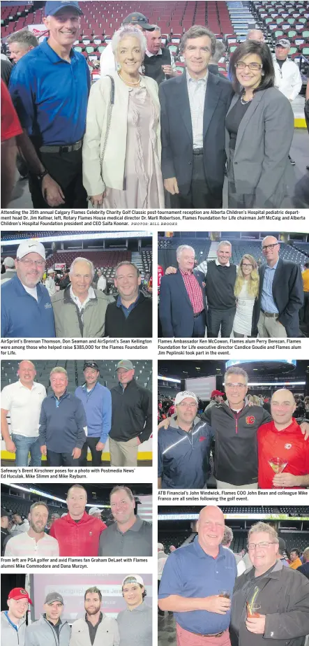
<instances>
[{"instance_id":1,"label":"background man in black shirt behind pale-haired woman's shoulder, top photo","mask_svg":"<svg viewBox=\"0 0 309 646\"><path fill-rule=\"evenodd\" d=\"M145 76L150 76L158 85L167 78L177 76L174 58L168 47L162 47L160 27L153 25L154 31L146 31L147 49L144 55Z\"/></svg>"}]
</instances>

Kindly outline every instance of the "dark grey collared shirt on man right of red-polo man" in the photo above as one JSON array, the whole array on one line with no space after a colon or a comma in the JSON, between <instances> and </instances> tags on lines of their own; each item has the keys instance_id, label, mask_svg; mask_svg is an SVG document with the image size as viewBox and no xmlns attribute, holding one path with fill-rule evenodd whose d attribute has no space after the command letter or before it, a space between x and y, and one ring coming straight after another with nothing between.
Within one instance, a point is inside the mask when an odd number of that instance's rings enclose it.
<instances>
[{"instance_id":1,"label":"dark grey collared shirt on man right of red-polo man","mask_svg":"<svg viewBox=\"0 0 309 646\"><path fill-rule=\"evenodd\" d=\"M130 529L122 532L116 522L100 536L99 557L152 557L152 525L136 517Z\"/></svg>"}]
</instances>

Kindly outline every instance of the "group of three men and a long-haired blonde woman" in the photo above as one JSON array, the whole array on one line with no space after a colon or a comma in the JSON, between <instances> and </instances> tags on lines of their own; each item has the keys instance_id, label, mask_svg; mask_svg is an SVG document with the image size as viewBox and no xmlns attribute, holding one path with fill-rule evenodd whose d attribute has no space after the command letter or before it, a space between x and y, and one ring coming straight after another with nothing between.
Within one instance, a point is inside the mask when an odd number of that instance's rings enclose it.
<instances>
[{"instance_id":1,"label":"group of three men and a long-haired blonde woman","mask_svg":"<svg viewBox=\"0 0 309 646\"><path fill-rule=\"evenodd\" d=\"M216 255L197 264L193 247L177 248L178 267L167 267L160 278L162 336L303 336L300 325L309 320L309 263L301 272L299 264L280 258L275 236L262 240L265 262L244 254L236 266L229 241L220 241Z\"/></svg>"}]
</instances>

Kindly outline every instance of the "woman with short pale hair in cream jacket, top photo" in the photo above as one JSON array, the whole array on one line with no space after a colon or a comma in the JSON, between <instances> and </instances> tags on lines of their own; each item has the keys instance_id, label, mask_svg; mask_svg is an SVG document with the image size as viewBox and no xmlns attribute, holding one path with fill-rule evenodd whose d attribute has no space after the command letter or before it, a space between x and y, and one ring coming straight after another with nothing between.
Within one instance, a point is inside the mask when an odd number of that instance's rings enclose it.
<instances>
[{"instance_id":1,"label":"woman with short pale hair in cream jacket, top photo","mask_svg":"<svg viewBox=\"0 0 309 646\"><path fill-rule=\"evenodd\" d=\"M146 38L137 27L121 27L112 50L117 71L89 96L84 187L94 208L164 208L158 85L140 75Z\"/></svg>"}]
</instances>

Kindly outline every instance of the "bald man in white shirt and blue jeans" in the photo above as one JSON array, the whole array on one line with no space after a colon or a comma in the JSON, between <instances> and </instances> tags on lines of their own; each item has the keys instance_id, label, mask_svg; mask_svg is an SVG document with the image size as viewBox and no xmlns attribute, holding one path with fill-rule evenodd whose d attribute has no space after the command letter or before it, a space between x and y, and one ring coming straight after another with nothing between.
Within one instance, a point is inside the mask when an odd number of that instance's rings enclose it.
<instances>
[{"instance_id":1,"label":"bald man in white shirt and blue jeans","mask_svg":"<svg viewBox=\"0 0 309 646\"><path fill-rule=\"evenodd\" d=\"M42 384L34 382L36 368L32 361L21 361L17 375L19 381L5 386L1 392L1 435L6 450L15 453L15 466L28 466L29 452L29 466L41 466L38 421L46 390Z\"/></svg>"}]
</instances>

